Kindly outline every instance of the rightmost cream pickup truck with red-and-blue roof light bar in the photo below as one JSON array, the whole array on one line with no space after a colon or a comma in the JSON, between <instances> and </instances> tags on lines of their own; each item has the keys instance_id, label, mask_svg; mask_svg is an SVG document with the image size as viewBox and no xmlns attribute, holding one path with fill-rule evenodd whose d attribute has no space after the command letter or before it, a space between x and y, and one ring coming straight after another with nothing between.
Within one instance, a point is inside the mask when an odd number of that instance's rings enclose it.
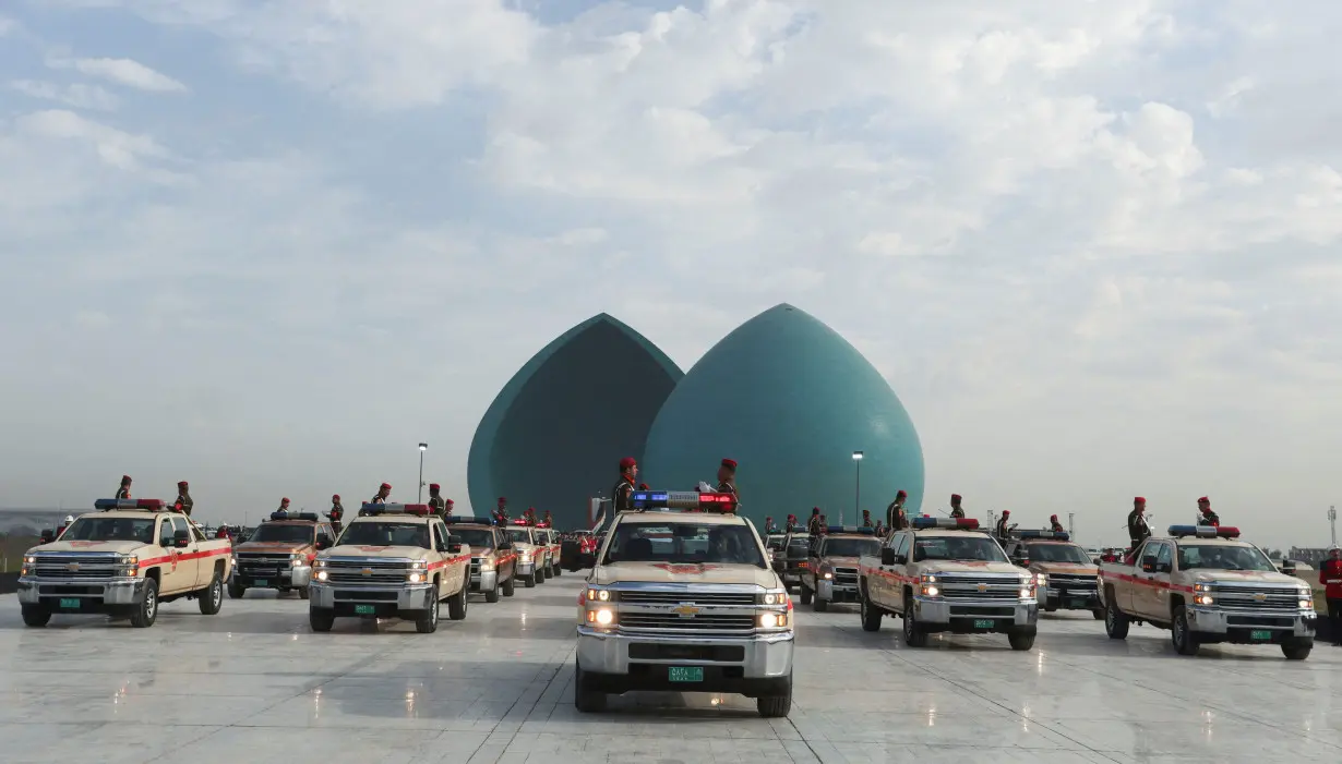
<instances>
[{"instance_id":1,"label":"rightmost cream pickup truck with red-and-blue roof light bar","mask_svg":"<svg viewBox=\"0 0 1342 764\"><path fill-rule=\"evenodd\" d=\"M1314 649L1315 610L1308 584L1278 572L1239 528L1170 525L1170 537L1146 539L1125 562L1100 563L1104 630L1127 638L1133 623L1170 630L1181 655L1202 645L1280 645L1291 661Z\"/></svg>"}]
</instances>

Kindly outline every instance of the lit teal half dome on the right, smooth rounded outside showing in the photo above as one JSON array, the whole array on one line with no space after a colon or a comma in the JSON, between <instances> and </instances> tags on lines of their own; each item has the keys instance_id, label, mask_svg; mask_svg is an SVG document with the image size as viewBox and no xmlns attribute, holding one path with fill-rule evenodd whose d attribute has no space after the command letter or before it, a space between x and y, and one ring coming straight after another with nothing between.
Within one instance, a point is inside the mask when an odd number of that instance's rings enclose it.
<instances>
[{"instance_id":1,"label":"lit teal half dome on the right, smooth rounded outside showing","mask_svg":"<svg viewBox=\"0 0 1342 764\"><path fill-rule=\"evenodd\" d=\"M788 304L773 307L715 344L652 422L641 479L654 488L713 483L722 458L739 462L741 508L761 525L820 507L872 521L899 489L922 507L923 457L909 411L879 371L832 328ZM762 527L762 525L761 525Z\"/></svg>"}]
</instances>

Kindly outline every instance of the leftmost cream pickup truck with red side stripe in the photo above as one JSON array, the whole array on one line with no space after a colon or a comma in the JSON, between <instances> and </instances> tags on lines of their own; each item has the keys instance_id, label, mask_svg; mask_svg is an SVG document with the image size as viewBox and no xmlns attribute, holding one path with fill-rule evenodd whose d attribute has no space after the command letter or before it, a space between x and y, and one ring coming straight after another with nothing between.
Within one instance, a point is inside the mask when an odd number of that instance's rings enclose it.
<instances>
[{"instance_id":1,"label":"leftmost cream pickup truck with red side stripe","mask_svg":"<svg viewBox=\"0 0 1342 764\"><path fill-rule=\"evenodd\" d=\"M224 602L232 544L207 539L160 499L99 499L59 540L30 550L19 571L23 622L106 613L153 626L158 606L195 599L215 615Z\"/></svg>"}]
</instances>

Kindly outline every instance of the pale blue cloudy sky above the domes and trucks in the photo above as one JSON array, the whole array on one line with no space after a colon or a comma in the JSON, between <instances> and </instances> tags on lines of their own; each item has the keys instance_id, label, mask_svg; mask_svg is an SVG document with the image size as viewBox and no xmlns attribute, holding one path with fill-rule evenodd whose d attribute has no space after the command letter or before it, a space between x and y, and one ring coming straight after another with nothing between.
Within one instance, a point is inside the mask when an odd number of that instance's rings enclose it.
<instances>
[{"instance_id":1,"label":"pale blue cloudy sky above the domes and trucks","mask_svg":"<svg viewBox=\"0 0 1342 764\"><path fill-rule=\"evenodd\" d=\"M790 302L899 393L934 504L1099 543L1209 493L1323 543L1342 5L1268 8L0 4L0 504L404 499L427 440L460 505L562 330L688 369Z\"/></svg>"}]
</instances>

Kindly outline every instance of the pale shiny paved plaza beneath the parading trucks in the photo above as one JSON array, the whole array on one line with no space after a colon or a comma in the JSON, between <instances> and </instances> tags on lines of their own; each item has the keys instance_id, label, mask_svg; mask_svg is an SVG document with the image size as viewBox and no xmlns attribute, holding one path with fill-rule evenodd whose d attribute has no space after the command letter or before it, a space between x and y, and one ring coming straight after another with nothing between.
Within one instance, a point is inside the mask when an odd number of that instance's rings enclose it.
<instances>
[{"instance_id":1,"label":"pale shiny paved plaza beneath the parading trucks","mask_svg":"<svg viewBox=\"0 0 1342 764\"><path fill-rule=\"evenodd\" d=\"M792 716L734 696L631 694L573 708L582 576L565 574L464 622L337 622L251 592L217 617L164 607L152 629L56 617L25 629L0 596L5 764L1337 761L1342 649L1104 637L1088 614L1044 617L1036 649L1004 637L903 646L898 621L863 633L854 607L798 610Z\"/></svg>"}]
</instances>

